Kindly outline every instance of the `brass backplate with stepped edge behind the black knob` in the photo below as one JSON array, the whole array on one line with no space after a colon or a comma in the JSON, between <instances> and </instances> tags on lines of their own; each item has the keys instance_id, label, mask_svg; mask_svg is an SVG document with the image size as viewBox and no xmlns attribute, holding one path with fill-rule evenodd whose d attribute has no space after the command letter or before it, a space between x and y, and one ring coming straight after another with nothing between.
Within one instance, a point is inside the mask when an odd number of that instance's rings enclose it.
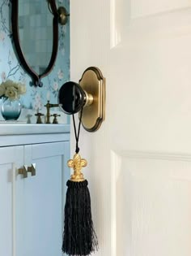
<instances>
[{"instance_id":1,"label":"brass backplate with stepped edge behind the black knob","mask_svg":"<svg viewBox=\"0 0 191 256\"><path fill-rule=\"evenodd\" d=\"M105 118L105 79L100 69L88 67L79 85L93 97L90 106L83 108L82 124L88 132L96 132Z\"/></svg>"}]
</instances>

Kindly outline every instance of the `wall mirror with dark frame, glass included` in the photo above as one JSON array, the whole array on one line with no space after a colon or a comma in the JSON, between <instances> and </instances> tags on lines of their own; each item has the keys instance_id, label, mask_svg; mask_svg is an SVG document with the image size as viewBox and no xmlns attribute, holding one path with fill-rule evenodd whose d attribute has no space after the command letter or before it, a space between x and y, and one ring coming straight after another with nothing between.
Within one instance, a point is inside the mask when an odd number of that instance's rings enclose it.
<instances>
[{"instance_id":1,"label":"wall mirror with dark frame, glass included","mask_svg":"<svg viewBox=\"0 0 191 256\"><path fill-rule=\"evenodd\" d=\"M12 1L15 50L35 86L43 85L41 78L51 72L57 57L59 10L55 0Z\"/></svg>"}]
</instances>

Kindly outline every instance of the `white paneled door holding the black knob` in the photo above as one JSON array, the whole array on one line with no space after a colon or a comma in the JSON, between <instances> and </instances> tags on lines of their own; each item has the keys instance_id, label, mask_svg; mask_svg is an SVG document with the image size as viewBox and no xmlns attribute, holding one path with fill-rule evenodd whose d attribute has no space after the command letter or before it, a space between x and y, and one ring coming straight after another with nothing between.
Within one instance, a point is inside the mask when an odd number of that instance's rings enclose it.
<instances>
[{"instance_id":1,"label":"white paneled door holding the black knob","mask_svg":"<svg viewBox=\"0 0 191 256\"><path fill-rule=\"evenodd\" d=\"M79 142L96 256L190 256L191 1L71 0L70 31L71 80L106 77L104 124Z\"/></svg>"}]
</instances>

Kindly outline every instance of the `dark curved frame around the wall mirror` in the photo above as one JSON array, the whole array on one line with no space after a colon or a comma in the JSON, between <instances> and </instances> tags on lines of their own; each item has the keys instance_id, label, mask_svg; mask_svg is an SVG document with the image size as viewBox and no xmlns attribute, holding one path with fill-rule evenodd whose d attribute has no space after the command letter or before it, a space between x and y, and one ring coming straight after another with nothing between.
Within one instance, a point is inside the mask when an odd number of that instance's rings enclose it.
<instances>
[{"instance_id":1,"label":"dark curved frame around the wall mirror","mask_svg":"<svg viewBox=\"0 0 191 256\"><path fill-rule=\"evenodd\" d=\"M19 0L12 1L12 11L11 11L11 24L12 24L12 35L13 35L13 41L15 43L15 50L17 52L17 55L19 57L19 61L23 68L30 76L32 76L33 85L42 87L43 84L41 82L41 78L44 76L47 76L49 72L53 69L53 64L55 63L55 60L57 58L57 47L58 47L58 18L59 14L57 11L57 6L55 3L55 0L49 0L47 1L49 4L49 8L51 8L51 12L53 13L53 50L51 59L49 61L48 67L46 67L45 72L42 74L37 74L34 70L32 70L32 67L30 67L27 60L24 58L23 51L20 46L20 40L19 40ZM48 8L47 4L47 8Z\"/></svg>"}]
</instances>

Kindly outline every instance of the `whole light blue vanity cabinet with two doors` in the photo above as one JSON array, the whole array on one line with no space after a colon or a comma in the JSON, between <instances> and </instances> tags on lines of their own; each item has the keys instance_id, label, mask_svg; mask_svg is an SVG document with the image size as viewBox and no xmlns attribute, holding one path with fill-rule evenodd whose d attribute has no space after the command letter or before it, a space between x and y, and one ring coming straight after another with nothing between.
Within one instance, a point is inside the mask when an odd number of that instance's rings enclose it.
<instances>
[{"instance_id":1,"label":"whole light blue vanity cabinet with two doors","mask_svg":"<svg viewBox=\"0 0 191 256\"><path fill-rule=\"evenodd\" d=\"M0 136L0 255L62 255L70 130L55 125L51 132L45 125L48 133L39 133L43 128L37 126L32 134ZM6 133L11 133L8 129ZM28 177L19 174L23 167Z\"/></svg>"}]
</instances>

